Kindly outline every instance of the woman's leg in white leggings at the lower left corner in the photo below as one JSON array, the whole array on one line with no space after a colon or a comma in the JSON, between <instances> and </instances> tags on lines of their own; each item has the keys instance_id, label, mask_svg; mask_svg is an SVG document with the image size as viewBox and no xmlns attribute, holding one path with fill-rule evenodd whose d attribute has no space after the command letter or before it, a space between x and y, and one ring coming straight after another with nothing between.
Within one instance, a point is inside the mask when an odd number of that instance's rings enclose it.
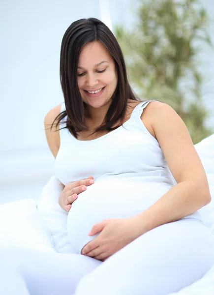
<instances>
[{"instance_id":1,"label":"woman's leg in white leggings at the lower left corner","mask_svg":"<svg viewBox=\"0 0 214 295\"><path fill-rule=\"evenodd\" d=\"M80 279L101 263L78 254L4 248L0 250L0 294L72 295Z\"/></svg>"}]
</instances>

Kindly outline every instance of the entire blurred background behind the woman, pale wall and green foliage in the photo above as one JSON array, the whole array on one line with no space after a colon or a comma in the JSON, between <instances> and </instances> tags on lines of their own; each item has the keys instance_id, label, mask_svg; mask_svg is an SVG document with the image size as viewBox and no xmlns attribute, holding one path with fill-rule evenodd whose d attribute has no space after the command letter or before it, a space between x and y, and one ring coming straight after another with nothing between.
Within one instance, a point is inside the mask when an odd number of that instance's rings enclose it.
<instances>
[{"instance_id":1,"label":"entire blurred background behind the woman, pale wall and green foliage","mask_svg":"<svg viewBox=\"0 0 214 295\"><path fill-rule=\"evenodd\" d=\"M194 144L214 133L213 0L1 0L1 204L37 200L54 174L44 117L63 102L63 34L88 17L116 35L141 99L171 105Z\"/></svg>"}]
</instances>

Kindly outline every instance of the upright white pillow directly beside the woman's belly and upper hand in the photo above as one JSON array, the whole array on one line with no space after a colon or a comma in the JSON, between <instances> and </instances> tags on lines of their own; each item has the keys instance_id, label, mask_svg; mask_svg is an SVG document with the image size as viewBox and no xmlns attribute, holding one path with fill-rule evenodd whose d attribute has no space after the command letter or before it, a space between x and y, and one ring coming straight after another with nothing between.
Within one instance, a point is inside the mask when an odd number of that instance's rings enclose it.
<instances>
[{"instance_id":1,"label":"upright white pillow directly beside the woman's belly and upper hand","mask_svg":"<svg viewBox=\"0 0 214 295\"><path fill-rule=\"evenodd\" d=\"M37 208L51 231L55 250L61 253L75 253L67 235L68 213L58 203L62 189L60 180L52 176L42 190Z\"/></svg>"}]
</instances>

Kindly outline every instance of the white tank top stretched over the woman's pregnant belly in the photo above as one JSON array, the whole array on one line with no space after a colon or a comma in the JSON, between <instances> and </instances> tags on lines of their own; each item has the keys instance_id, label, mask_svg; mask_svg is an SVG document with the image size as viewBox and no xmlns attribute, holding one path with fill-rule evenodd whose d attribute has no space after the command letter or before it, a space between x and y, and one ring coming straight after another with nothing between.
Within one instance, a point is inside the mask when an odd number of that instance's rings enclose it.
<instances>
[{"instance_id":1,"label":"white tank top stretched over the woman's pregnant belly","mask_svg":"<svg viewBox=\"0 0 214 295\"><path fill-rule=\"evenodd\" d=\"M80 141L67 128L60 130L57 177L64 185L94 177L94 184L78 195L68 213L68 237L76 253L95 237L88 236L94 224L135 216L177 183L158 141L141 120L151 101L140 102L122 126L97 139ZM60 128L66 126L66 118ZM201 220L198 211L185 218L189 217Z\"/></svg>"}]
</instances>

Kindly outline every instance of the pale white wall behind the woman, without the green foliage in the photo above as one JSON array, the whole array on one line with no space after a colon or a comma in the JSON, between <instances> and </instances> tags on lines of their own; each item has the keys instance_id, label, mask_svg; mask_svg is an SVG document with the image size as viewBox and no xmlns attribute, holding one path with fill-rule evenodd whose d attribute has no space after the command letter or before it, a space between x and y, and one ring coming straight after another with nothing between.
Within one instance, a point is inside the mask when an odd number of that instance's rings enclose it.
<instances>
[{"instance_id":1,"label":"pale white wall behind the woman, without the green foliage","mask_svg":"<svg viewBox=\"0 0 214 295\"><path fill-rule=\"evenodd\" d=\"M137 0L0 1L0 203L35 198L53 175L54 157L43 120L63 102L59 63L61 39L80 18L96 17L113 28L135 21ZM214 19L212 0L203 0ZM109 4L109 6L108 6ZM211 28L213 34L214 24ZM214 111L214 53L205 49L201 66L208 81L204 99ZM214 115L208 121L214 126Z\"/></svg>"}]
</instances>

